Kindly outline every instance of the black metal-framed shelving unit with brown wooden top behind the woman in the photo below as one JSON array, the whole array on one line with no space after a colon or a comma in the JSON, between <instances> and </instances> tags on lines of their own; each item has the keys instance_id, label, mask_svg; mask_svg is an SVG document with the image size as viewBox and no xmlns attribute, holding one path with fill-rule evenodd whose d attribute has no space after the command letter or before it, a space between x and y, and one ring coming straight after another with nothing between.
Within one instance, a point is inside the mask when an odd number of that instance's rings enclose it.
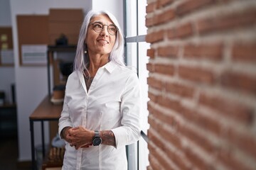
<instances>
[{"instance_id":1,"label":"black metal-framed shelving unit with brown wooden top behind the woman","mask_svg":"<svg viewBox=\"0 0 256 170\"><path fill-rule=\"evenodd\" d=\"M47 72L48 72L48 96L43 99L43 101L39 104L35 111L30 115L30 128L31 128L31 155L32 155L32 166L33 169L36 169L36 157L35 157L35 146L34 146L34 131L33 131L33 123L36 121L41 122L41 135L42 135L42 152L43 158L46 158L46 148L44 141L44 122L48 121L50 126L50 140L55 137L58 132L58 119L60 118L60 113L62 111L62 105L54 105L50 102L51 96L51 78L55 80L53 82L53 86L58 84L56 79L59 76L60 72L58 70L58 63L54 60L54 52L75 52L75 45L68 46L48 46L47 50ZM74 56L75 57L75 56ZM50 74L50 65L53 65L53 75ZM46 166L46 164L44 164Z\"/></svg>"}]
</instances>

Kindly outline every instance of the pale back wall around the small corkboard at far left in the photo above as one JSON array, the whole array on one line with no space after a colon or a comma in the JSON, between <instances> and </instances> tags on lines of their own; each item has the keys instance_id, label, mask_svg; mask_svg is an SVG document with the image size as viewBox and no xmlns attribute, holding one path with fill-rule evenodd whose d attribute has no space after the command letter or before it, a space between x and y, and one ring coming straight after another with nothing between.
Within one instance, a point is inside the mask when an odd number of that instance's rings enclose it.
<instances>
[{"instance_id":1,"label":"pale back wall around the small corkboard at far left","mask_svg":"<svg viewBox=\"0 0 256 170\"><path fill-rule=\"evenodd\" d=\"M0 27L11 27L9 0L0 0ZM14 67L0 67L0 91L6 94L6 102L11 103L11 84L14 84Z\"/></svg>"}]
</instances>

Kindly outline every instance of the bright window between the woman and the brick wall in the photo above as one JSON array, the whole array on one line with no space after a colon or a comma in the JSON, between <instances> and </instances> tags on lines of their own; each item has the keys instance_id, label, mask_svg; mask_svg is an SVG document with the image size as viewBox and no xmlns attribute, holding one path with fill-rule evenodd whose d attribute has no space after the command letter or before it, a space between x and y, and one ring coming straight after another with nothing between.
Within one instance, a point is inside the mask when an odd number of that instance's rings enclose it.
<instances>
[{"instance_id":1,"label":"bright window between the woman and the brick wall","mask_svg":"<svg viewBox=\"0 0 256 170\"><path fill-rule=\"evenodd\" d=\"M146 0L124 1L124 36L125 36L125 56L128 66L137 69L139 82L142 86L142 133L146 134L149 124L147 117L148 85L146 79L149 72L146 70L146 63L149 57L146 56L146 50L149 49L149 43L145 42L146 26ZM149 150L146 140L141 137L137 145L128 147L129 170L145 170L149 165ZM131 156L130 154L131 153ZM134 155L137 155L134 158ZM134 160L135 159L135 160Z\"/></svg>"}]
</instances>

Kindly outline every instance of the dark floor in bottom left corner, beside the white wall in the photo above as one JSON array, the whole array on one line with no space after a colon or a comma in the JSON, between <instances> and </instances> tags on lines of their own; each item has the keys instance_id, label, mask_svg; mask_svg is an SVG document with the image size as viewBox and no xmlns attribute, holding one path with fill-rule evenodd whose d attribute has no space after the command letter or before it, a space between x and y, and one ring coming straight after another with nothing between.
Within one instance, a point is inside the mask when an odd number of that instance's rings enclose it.
<instances>
[{"instance_id":1,"label":"dark floor in bottom left corner, beside the white wall","mask_svg":"<svg viewBox=\"0 0 256 170\"><path fill-rule=\"evenodd\" d=\"M18 140L14 137L0 140L0 170L27 170L29 167L17 167Z\"/></svg>"}]
</instances>

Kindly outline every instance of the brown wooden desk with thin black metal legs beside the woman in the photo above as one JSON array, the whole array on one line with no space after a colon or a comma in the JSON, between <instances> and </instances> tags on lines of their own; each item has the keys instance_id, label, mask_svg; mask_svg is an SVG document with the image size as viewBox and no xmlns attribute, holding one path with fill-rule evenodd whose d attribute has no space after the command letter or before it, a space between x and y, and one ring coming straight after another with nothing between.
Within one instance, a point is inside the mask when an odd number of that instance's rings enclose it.
<instances>
[{"instance_id":1,"label":"brown wooden desk with thin black metal legs beside the woman","mask_svg":"<svg viewBox=\"0 0 256 170\"><path fill-rule=\"evenodd\" d=\"M44 121L58 120L60 118L60 113L62 111L63 105L53 105L50 102L50 96L46 96L43 101L39 104L35 111L29 116L30 130L31 130L31 156L32 156L32 169L36 169L36 159L35 159L35 143L34 143L34 130L33 123L36 121L41 122L41 132L42 132L42 147L43 147L43 157L45 157L45 141L44 141Z\"/></svg>"}]
</instances>

